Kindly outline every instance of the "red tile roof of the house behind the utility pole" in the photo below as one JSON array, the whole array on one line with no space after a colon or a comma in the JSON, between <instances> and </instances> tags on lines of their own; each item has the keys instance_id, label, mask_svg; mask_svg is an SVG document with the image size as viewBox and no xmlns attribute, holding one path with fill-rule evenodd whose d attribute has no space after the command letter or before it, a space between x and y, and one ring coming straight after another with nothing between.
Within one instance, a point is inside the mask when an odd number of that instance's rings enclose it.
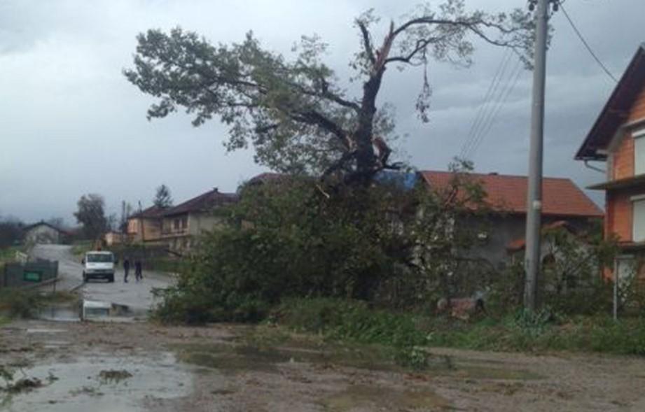
<instances>
[{"instance_id":1,"label":"red tile roof of the house behind the utility pole","mask_svg":"<svg viewBox=\"0 0 645 412\"><path fill-rule=\"evenodd\" d=\"M441 189L450 184L454 174L449 171L421 171L430 187ZM478 180L487 193L486 202L494 210L508 213L526 213L527 178L499 174L469 173ZM604 213L571 180L543 178L542 214L562 217L602 218Z\"/></svg>"}]
</instances>

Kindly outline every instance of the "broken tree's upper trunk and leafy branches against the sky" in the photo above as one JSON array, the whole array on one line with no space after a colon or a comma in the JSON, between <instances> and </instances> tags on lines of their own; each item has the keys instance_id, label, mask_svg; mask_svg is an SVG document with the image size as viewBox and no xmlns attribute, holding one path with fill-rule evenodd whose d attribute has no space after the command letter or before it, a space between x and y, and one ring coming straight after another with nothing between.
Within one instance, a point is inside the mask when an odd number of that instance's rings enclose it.
<instances>
[{"instance_id":1,"label":"broken tree's upper trunk and leafy branches against the sky","mask_svg":"<svg viewBox=\"0 0 645 412\"><path fill-rule=\"evenodd\" d=\"M469 11L464 0L426 4L392 21L375 44L378 21L373 10L354 21L359 49L350 66L363 86L358 96L349 96L347 83L323 62L327 45L317 36L303 36L287 58L263 48L252 31L241 43L214 45L180 28L151 29L139 34L134 68L124 74L158 98L148 118L182 107L195 126L219 118L229 127L228 150L253 145L256 162L276 171L370 178L397 166L389 163L387 144L395 136L391 106L376 104L388 66L426 67L431 60L468 66L473 38L512 48L529 62L527 11ZM423 121L430 96L424 72L416 103Z\"/></svg>"}]
</instances>

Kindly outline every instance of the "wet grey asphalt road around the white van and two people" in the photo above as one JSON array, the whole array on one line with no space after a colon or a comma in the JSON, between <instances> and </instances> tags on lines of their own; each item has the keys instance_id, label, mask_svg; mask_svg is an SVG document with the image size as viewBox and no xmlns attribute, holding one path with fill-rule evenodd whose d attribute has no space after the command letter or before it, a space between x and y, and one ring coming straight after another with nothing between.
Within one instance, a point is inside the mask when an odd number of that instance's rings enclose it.
<instances>
[{"instance_id":1,"label":"wet grey asphalt road around the white van and two people","mask_svg":"<svg viewBox=\"0 0 645 412\"><path fill-rule=\"evenodd\" d=\"M145 313L154 305L153 288L165 288L172 283L170 276L146 271L145 267L144 279L141 282L134 281L134 270L130 270L129 282L124 283L123 268L120 267L116 271L114 283L90 280L83 284L83 265L80 258L72 255L71 246L36 245L32 250L32 256L59 262L56 290L73 290L80 287L84 299L126 305L134 313Z\"/></svg>"}]
</instances>

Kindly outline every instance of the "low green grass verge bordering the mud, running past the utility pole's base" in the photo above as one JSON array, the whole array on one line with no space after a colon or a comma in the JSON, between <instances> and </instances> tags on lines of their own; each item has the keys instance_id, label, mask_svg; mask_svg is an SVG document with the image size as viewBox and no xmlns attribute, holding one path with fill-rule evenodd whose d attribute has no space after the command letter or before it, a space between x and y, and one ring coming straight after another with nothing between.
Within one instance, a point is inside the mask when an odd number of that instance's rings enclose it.
<instances>
[{"instance_id":1,"label":"low green grass verge bordering the mud, running past the utility pole's base","mask_svg":"<svg viewBox=\"0 0 645 412\"><path fill-rule=\"evenodd\" d=\"M645 318L565 316L524 311L471 322L443 316L393 313L334 299L286 301L275 322L335 341L375 343L393 348L400 364L422 367L424 348L451 347L506 352L599 352L645 355Z\"/></svg>"}]
</instances>

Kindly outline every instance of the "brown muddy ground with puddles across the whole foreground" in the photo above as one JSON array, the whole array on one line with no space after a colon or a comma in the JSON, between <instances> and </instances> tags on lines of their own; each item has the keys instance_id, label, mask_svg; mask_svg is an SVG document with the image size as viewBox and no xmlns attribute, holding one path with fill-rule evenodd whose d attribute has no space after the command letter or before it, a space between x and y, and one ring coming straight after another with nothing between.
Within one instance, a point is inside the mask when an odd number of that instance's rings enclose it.
<instances>
[{"instance_id":1,"label":"brown muddy ground with puddles across the whole foreground","mask_svg":"<svg viewBox=\"0 0 645 412\"><path fill-rule=\"evenodd\" d=\"M645 411L645 360L431 349L427 371L380 348L272 327L18 321L0 411ZM3 385L0 378L0 385Z\"/></svg>"}]
</instances>

